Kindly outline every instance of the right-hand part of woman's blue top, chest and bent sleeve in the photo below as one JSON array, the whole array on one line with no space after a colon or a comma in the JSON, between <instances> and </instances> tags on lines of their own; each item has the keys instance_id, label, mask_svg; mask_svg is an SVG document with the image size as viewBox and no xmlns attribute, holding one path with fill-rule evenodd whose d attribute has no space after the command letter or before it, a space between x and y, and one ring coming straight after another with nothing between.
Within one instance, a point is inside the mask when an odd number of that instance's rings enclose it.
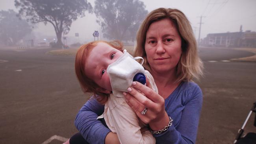
<instances>
[{"instance_id":1,"label":"right-hand part of woman's blue top, chest and bent sleeve","mask_svg":"<svg viewBox=\"0 0 256 144\"><path fill-rule=\"evenodd\" d=\"M165 100L173 125L164 133L154 135L157 144L195 144L201 108L202 91L197 84L184 83L177 88Z\"/></svg>"}]
</instances>

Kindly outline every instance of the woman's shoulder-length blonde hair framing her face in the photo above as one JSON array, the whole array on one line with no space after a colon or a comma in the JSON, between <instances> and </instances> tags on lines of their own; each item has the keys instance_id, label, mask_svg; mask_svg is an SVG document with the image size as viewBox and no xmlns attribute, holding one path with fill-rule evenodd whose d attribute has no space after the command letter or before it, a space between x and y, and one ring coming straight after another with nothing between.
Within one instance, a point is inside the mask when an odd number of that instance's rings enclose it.
<instances>
[{"instance_id":1,"label":"woman's shoulder-length blonde hair framing her face","mask_svg":"<svg viewBox=\"0 0 256 144\"><path fill-rule=\"evenodd\" d=\"M203 64L197 54L197 41L187 17L178 9L158 8L151 11L144 19L137 32L137 44L134 56L143 57L145 60L144 68L150 70L145 52L146 34L150 24L169 18L174 22L182 39L182 55L177 65L176 81L190 81L193 78L199 79L202 75Z\"/></svg>"}]
</instances>

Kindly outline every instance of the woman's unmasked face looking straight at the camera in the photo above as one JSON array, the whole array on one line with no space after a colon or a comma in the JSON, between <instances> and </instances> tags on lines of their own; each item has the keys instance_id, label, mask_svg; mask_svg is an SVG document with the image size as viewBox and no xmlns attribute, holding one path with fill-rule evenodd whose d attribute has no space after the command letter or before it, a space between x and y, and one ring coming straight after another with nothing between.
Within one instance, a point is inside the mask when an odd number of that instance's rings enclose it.
<instances>
[{"instance_id":1,"label":"woman's unmasked face looking straight at the camera","mask_svg":"<svg viewBox=\"0 0 256 144\"><path fill-rule=\"evenodd\" d=\"M145 51L152 72L175 72L182 54L182 40L169 19L153 22L146 33Z\"/></svg>"}]
</instances>

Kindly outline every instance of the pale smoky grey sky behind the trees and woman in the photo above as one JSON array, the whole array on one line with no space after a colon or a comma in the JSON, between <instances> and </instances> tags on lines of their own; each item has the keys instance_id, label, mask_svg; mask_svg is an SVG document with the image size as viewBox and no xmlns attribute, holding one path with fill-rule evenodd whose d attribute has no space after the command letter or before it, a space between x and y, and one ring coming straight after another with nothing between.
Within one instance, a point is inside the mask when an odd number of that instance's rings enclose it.
<instances>
[{"instance_id":1,"label":"pale smoky grey sky behind the trees and woman","mask_svg":"<svg viewBox=\"0 0 256 144\"><path fill-rule=\"evenodd\" d=\"M87 0L94 7L95 0ZM200 16L202 18L200 38L206 37L208 33L237 32L240 25L243 31L256 31L256 0L141 0L144 2L148 12L159 8L177 8L185 13L198 39ZM0 10L13 9L14 0L0 0ZM93 41L94 30L100 31L96 23L95 14L85 14L85 17L78 18L71 25L67 37L74 37L79 33L80 42ZM54 36L55 31L51 24L46 26L43 23L37 24L33 29L36 33L46 36ZM99 37L103 39L103 37Z\"/></svg>"}]
</instances>

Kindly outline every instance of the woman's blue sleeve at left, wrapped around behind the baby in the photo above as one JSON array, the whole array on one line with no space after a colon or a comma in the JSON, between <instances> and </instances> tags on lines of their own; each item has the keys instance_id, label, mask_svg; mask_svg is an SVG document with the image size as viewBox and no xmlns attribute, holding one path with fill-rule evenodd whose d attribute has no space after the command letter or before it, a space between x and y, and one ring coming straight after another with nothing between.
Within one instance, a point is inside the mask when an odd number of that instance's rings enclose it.
<instances>
[{"instance_id":1,"label":"woman's blue sleeve at left, wrapped around behind the baby","mask_svg":"<svg viewBox=\"0 0 256 144\"><path fill-rule=\"evenodd\" d=\"M104 144L106 135L110 132L110 129L96 119L103 112L104 105L91 98L76 114L75 126L90 144Z\"/></svg>"}]
</instances>

